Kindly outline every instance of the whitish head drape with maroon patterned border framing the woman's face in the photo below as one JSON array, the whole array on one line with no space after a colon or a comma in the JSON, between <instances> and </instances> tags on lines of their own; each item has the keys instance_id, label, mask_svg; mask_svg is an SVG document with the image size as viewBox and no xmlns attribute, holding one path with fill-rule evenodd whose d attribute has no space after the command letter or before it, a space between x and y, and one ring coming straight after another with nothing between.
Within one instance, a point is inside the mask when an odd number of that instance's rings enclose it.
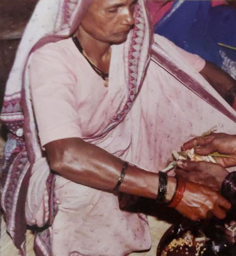
<instances>
[{"instance_id":1,"label":"whitish head drape with maroon patterned border framing the woman's face","mask_svg":"<svg viewBox=\"0 0 236 256\"><path fill-rule=\"evenodd\" d=\"M29 57L32 52L46 43L70 37L91 3L92 0L40 0L26 26L6 84L1 120L10 133L4 152L1 206L5 213L7 230L22 255L26 253L26 221L23 206L27 187L34 163L43 157L30 101L27 77ZM152 42L152 33L149 31L148 16L143 1L140 1L136 8L135 18L136 26L125 44L125 75L129 95L128 98L123 98L122 102L114 102L120 108L113 113L103 133L97 134L95 138L103 136L122 121L132 107L142 85ZM120 56L119 61L123 64L123 56ZM45 216L44 224L50 224L53 218L50 205L53 176L50 174L49 167L47 169L48 178L45 182L45 205L43 206L51 211ZM37 244L36 239L36 251L43 253L43 249L37 249L37 246L42 247L39 243Z\"/></svg>"}]
</instances>

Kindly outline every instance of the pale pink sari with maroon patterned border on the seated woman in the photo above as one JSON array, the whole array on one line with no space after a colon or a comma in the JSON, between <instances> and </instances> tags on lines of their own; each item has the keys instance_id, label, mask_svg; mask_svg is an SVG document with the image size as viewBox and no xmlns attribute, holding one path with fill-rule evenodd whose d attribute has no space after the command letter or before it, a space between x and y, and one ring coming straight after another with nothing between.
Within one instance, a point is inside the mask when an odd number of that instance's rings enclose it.
<instances>
[{"instance_id":1,"label":"pale pink sari with maroon patterned border on the seated woman","mask_svg":"<svg viewBox=\"0 0 236 256\"><path fill-rule=\"evenodd\" d=\"M50 3L48 0L41 0L26 28L7 83L1 119L11 133L5 148L3 168L5 178L1 202L8 232L22 255L25 255L26 218L27 224L49 226L43 232L36 232L35 250L39 256L53 253L58 255L60 250L65 250L65 253L71 256L114 255L114 251L118 250L114 245L117 242L114 238L110 246L113 252L101 246L99 253L92 254L87 252L86 248L92 247L94 241L86 240L85 245L81 245L80 240L77 239L72 239L72 244L77 249L70 251L68 248L71 245L63 244L63 240L71 235L71 230L78 219L70 219L71 222L67 223L68 229L64 230L64 235L56 238L56 235L61 234L60 230L64 229L64 221L68 214L65 211L63 214L66 216L59 214L62 211L56 208L58 204L55 193L58 198L60 193L63 194L64 189L74 186L72 194L74 192L77 195L77 189L81 191L82 187L71 181L61 180L50 173L38 140L27 69L22 66L22 63L28 66L27 60L31 51L47 42L56 42L71 35L90 3L91 1L88 0L51 0ZM58 5L60 8L57 10ZM49 17L50 21L44 20L45 17L40 15L42 11L49 12L44 12L44 15ZM45 23L41 29L37 27L39 21L35 20L36 17L39 20L42 17L40 24ZM156 36L155 43L152 43L149 17L142 0L137 5L135 18L136 25L127 41L123 45L113 46L113 61L110 67L113 82L109 85L107 104L101 106L108 109L107 125L84 139L144 169L157 171L165 165L171 149L179 148L191 135L199 135L215 126L219 131L234 133L236 115L210 85L181 59L168 40ZM44 37L46 34L47 36ZM117 66L122 68L117 69ZM119 95L117 95L118 88L120 88ZM121 141L125 142L125 147L121 148L121 145L123 146ZM40 182L37 179L39 176ZM69 187L66 188L68 184ZM58 190L60 187L62 189ZM117 195L113 193L92 188L89 188L89 192L94 197L100 195L104 200L107 197L107 201L102 200L104 205L98 203L99 200L96 202L99 204L98 208L106 207L106 203L112 204L127 224L126 228L130 232L127 232L127 236L130 236L128 234L137 236L137 242L133 236L127 237L128 245L121 244L117 255L149 248L150 236L147 220L143 214L122 213L118 208ZM28 216L24 210L26 196ZM33 200L29 199L30 196ZM111 218L111 223L112 220L116 225L119 224L117 219ZM76 230L81 231L81 227ZM125 238L125 230L123 227L121 232L123 238ZM56 245L61 244L61 247L54 247L55 241ZM88 245L87 241L92 244Z\"/></svg>"}]
</instances>

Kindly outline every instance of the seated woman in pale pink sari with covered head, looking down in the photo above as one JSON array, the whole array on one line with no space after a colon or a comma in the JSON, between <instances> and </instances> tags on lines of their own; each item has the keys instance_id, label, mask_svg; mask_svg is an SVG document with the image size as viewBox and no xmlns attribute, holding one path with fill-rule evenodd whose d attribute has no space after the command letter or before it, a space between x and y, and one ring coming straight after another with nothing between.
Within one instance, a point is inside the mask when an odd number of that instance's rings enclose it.
<instances>
[{"instance_id":1,"label":"seated woman in pale pink sari with covered head, looking down","mask_svg":"<svg viewBox=\"0 0 236 256\"><path fill-rule=\"evenodd\" d=\"M204 65L153 40L143 0L39 1L1 115L10 130L2 208L22 255L26 224L41 227L37 255L149 249L146 216L121 210L119 192L190 219L225 217L220 193L159 172L193 134L235 131L235 111L199 74Z\"/></svg>"}]
</instances>

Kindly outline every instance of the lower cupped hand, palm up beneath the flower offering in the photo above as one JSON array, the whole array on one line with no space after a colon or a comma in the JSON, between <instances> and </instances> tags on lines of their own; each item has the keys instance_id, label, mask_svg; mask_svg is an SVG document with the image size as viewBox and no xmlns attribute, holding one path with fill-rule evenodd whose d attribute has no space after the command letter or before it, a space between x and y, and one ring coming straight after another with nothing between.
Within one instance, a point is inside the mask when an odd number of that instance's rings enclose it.
<instances>
[{"instance_id":1,"label":"lower cupped hand, palm up beneath the flower offering","mask_svg":"<svg viewBox=\"0 0 236 256\"><path fill-rule=\"evenodd\" d=\"M220 191L221 184L228 174L228 171L221 165L206 161L178 160L178 167L175 173L187 181L192 181Z\"/></svg>"}]
</instances>

